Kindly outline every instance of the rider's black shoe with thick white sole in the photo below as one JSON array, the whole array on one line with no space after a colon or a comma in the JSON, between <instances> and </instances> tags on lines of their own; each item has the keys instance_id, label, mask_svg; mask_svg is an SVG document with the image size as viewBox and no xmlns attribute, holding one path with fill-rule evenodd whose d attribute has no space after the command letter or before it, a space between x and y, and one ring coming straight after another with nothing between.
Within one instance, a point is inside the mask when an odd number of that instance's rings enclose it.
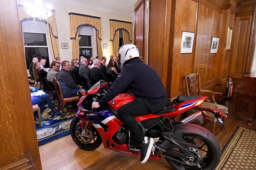
<instances>
[{"instance_id":1,"label":"rider's black shoe with thick white sole","mask_svg":"<svg viewBox=\"0 0 256 170\"><path fill-rule=\"evenodd\" d=\"M141 146L141 163L142 164L147 162L150 156L153 144L154 144L153 138L149 138L147 136L144 137L144 144L142 144Z\"/></svg>"}]
</instances>

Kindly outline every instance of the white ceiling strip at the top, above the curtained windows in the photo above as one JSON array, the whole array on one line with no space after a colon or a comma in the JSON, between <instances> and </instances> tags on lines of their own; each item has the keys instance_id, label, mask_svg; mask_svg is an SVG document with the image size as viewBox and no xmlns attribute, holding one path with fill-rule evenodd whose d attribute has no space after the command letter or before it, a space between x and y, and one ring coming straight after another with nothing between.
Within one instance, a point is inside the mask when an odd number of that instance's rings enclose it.
<instances>
[{"instance_id":1,"label":"white ceiling strip at the top, above the curtained windows","mask_svg":"<svg viewBox=\"0 0 256 170\"><path fill-rule=\"evenodd\" d=\"M133 16L137 0L48 0L68 5L81 6L97 11Z\"/></svg>"}]
</instances>

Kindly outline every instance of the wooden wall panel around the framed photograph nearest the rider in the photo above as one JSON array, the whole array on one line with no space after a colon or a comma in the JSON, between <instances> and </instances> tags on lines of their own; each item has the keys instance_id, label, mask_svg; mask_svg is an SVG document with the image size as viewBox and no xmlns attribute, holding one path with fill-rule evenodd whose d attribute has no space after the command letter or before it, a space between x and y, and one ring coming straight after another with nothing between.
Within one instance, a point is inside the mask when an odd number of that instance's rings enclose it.
<instances>
[{"instance_id":1,"label":"wooden wall panel around the framed photograph nearest the rider","mask_svg":"<svg viewBox=\"0 0 256 170\"><path fill-rule=\"evenodd\" d=\"M186 11L186 12L184 12ZM172 88L171 98L178 95L186 95L186 85L184 77L190 74L193 69L193 56L196 45L196 14L197 3L191 0L176 1L175 26L174 26L174 45L172 58ZM194 32L193 52L189 54L181 54L181 36L182 31ZM184 93L183 93L184 91Z\"/></svg>"}]
</instances>

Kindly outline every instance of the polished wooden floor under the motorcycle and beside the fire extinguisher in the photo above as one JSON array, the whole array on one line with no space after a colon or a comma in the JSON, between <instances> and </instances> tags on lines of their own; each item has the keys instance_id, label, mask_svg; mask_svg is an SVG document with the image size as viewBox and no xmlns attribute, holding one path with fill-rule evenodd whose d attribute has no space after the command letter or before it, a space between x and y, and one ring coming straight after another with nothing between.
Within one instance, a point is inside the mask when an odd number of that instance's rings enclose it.
<instances>
[{"instance_id":1,"label":"polished wooden floor under the motorcycle and beside the fire extinguisher","mask_svg":"<svg viewBox=\"0 0 256 170\"><path fill-rule=\"evenodd\" d=\"M252 121L252 126L246 124L248 104L240 102L239 109L236 107L235 99L224 100L219 103L228 107L228 118L226 119L223 131L217 124L214 135L217 137L221 149L228 142L238 126L256 130L256 120ZM207 129L209 123L204 123ZM172 169L164 158L161 161L149 159L145 164L140 163L140 158L126 153L104 149L101 145L94 151L84 151L77 147L70 135L47 143L39 147L43 170L113 170L113 169Z\"/></svg>"}]
</instances>

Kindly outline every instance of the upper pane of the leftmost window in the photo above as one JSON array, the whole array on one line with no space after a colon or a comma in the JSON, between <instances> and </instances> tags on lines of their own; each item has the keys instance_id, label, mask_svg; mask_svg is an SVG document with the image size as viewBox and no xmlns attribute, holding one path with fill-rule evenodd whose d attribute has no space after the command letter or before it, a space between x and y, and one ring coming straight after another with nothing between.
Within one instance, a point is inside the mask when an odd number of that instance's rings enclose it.
<instances>
[{"instance_id":1,"label":"upper pane of the leftmost window","mask_svg":"<svg viewBox=\"0 0 256 170\"><path fill-rule=\"evenodd\" d=\"M47 46L45 34L24 33L25 46Z\"/></svg>"}]
</instances>

